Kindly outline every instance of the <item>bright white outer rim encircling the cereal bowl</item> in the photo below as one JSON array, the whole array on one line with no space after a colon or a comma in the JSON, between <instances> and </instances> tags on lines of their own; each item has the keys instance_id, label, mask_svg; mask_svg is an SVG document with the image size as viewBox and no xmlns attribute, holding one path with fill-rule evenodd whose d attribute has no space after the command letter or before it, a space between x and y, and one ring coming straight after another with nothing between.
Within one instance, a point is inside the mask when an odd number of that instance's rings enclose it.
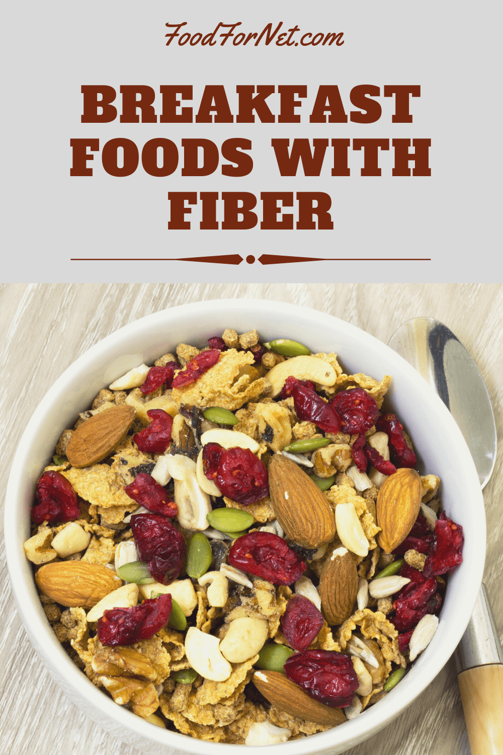
<instances>
[{"instance_id":1,"label":"bright white outer rim encircling the cereal bowl","mask_svg":"<svg viewBox=\"0 0 503 755\"><path fill-rule=\"evenodd\" d=\"M171 307L159 312L152 313L144 316L134 322L124 325L123 328L119 328L108 336L104 337L101 341L94 346L90 347L84 354L78 357L72 365L57 378L52 387L44 395L39 402L37 408L30 418L26 430L20 439L17 451L14 455L14 460L11 467L11 473L8 479L8 486L5 495L5 550L7 554L8 571L11 578L11 589L14 593L14 599L17 603L17 609L20 612L21 619L23 621L26 633L28 633L29 639L35 650L40 655L42 661L48 667L51 675L56 679L60 686L69 694L70 699L82 710L89 715L89 708L93 708L97 713L97 717L103 711L102 720L97 721L103 728L108 729L119 738L121 733L119 729L133 732L135 735L140 735L146 742L154 744L161 744L164 747L176 748L176 750L182 750L190 753L198 753L198 755L216 755L216 747L222 747L222 743L203 741L195 738L190 738L187 735L182 735L178 732L171 732L165 729L160 729L156 726L152 726L148 722L142 720L139 716L135 716L128 710L124 710L121 706L115 704L107 695L103 695L100 689L97 689L90 680L84 676L84 673L79 670L75 664L71 661L66 652L63 650L63 646L57 641L54 633L51 630L50 625L45 618L44 612L41 610L41 605L32 605L32 600L29 598L28 581L23 577L23 564L26 565L26 556L24 555L22 544L19 546L17 533L20 532L20 524L22 523L23 515L21 513L21 507L19 505L20 500L23 497L23 467L25 465L26 456L29 454L29 445L32 441L33 434L40 432L39 427L46 415L50 415L54 411L54 403L57 396L61 395L61 392L65 389L68 390L69 385L75 380L78 374L81 374L81 369L84 365L94 362L97 359L105 356L109 346L115 344L119 339L127 341L130 338L136 337L142 333L149 325L170 322L176 325L176 322L180 322L186 316L187 313L200 314L207 313L209 310L213 313L222 313L222 319L225 316L231 316L232 313L253 313L253 309L266 311L269 315L276 318L285 316L292 316L293 319L301 317L304 322L311 323L313 328L319 328L320 326L327 325L327 319L330 320L332 328L342 331L348 336L354 336L357 341L360 341L361 348L366 346L373 347L382 350L384 353L386 362L390 366L390 371L393 365L397 365L397 369L400 372L405 373L407 381L413 386L413 390L417 394L417 399L425 400L431 405L434 411L435 417L439 418L443 424L449 430L449 438L454 439L456 448L459 453L460 461L463 469L465 470L465 476L468 483L467 496L471 496L471 505L478 507L480 513L483 516L479 516L476 520L474 527L471 528L471 538L474 541L477 552L477 560L471 564L471 589L465 593L465 599L463 605L459 607L457 612L458 623L449 627L449 633L446 636L446 642L443 645L442 654L438 650L434 653L434 658L440 660L440 664L437 666L434 663L423 664L421 667L421 673L415 674L420 677L419 685L415 686L413 683L406 683L406 678L403 683L400 684L400 692L397 692L397 688L388 693L385 700L390 704L388 705L388 711L384 714L381 704L378 703L365 711L365 715L362 717L357 716L354 720L349 720L343 727L337 727L336 729L329 729L327 732L321 732L314 737L307 737L298 739L295 741L287 741L278 745L266 745L260 747L262 755L268 755L268 747L288 747L288 752L291 755L305 755L313 751L332 750L342 752L341 749L334 750L334 747L351 747L357 744L358 741L363 741L372 733L376 733L384 726L388 726L396 716L403 713L403 710L413 702L413 700L428 686L434 679L434 676L440 671L443 665L448 661L450 655L454 651L455 647L459 643L463 632L471 617L471 612L474 608L475 600L477 599L480 582L482 581L483 565L486 550L486 519L485 510L483 507L483 495L480 488L480 482L477 476L477 471L474 467L474 462L471 458L468 446L465 443L465 439L462 436L459 427L455 424L452 415L449 413L446 406L441 399L434 393L434 390L428 385L424 378L416 372L416 370L406 362L401 356L391 350L390 347L383 344L376 337L368 334L366 331L357 328L355 325L351 325L344 320L336 318L327 313L323 313L319 310L306 309L296 304L285 304L276 300L262 300L262 299L220 299L220 300L207 300L202 302L195 302L189 304L182 304L178 307ZM166 340L169 341L170 335L167 334ZM344 356L342 355L342 359ZM391 374L394 374L391 371ZM478 503L477 503L478 501ZM11 502L11 504L10 504ZM18 504L18 505L14 505ZM484 557L481 557L483 554ZM33 583L33 581L32 581ZM477 588L475 589L475 585ZM33 584L31 584L31 588ZM440 622L442 618L440 615ZM60 651L58 670L54 668L54 643L57 643L57 649ZM431 659L433 660L433 658ZM64 680L58 672L63 664ZM409 676L410 673L407 674ZM84 680L84 684L82 681ZM411 680L412 681L412 680ZM74 697L72 697L72 694ZM99 695L99 697L98 697ZM78 700L75 701L75 696L81 698L84 703L79 704ZM391 705L391 701L395 701L395 707ZM383 701L384 702L384 701ZM398 706L398 710L396 710ZM109 722L106 717L109 716L118 724L113 727L113 731L109 728ZM172 738L175 737L173 740ZM133 741L130 741L133 744ZM139 744L133 744L133 746L139 747ZM241 750L243 745L238 744L225 744L229 755L238 755L238 751ZM235 752L232 752L234 748ZM152 747L151 747L152 749ZM258 749L258 748L257 748ZM153 751L153 750L152 750ZM275 752L278 750L275 749ZM285 750L286 752L286 750Z\"/></svg>"}]
</instances>

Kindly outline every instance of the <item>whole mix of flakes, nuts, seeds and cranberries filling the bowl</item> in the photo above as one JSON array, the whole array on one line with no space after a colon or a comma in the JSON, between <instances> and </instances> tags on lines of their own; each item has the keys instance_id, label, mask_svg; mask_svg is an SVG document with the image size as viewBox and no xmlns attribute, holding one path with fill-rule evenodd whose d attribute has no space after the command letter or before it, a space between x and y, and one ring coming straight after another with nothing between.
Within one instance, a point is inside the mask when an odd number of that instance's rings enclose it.
<instances>
[{"instance_id":1,"label":"whole mix of flakes, nuts, seeds and cranberries filling the bowl","mask_svg":"<svg viewBox=\"0 0 503 755\"><path fill-rule=\"evenodd\" d=\"M24 547L57 639L103 694L231 744L324 732L388 694L463 546L383 408L390 383L226 328L75 415Z\"/></svg>"}]
</instances>

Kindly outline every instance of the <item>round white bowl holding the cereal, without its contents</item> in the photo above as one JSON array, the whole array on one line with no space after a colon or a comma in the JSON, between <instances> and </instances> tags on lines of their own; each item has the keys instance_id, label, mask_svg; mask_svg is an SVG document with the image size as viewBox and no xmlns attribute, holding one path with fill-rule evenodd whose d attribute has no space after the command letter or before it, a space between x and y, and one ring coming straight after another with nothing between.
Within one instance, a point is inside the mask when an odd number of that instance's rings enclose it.
<instances>
[{"instance_id":1,"label":"round white bowl holding the cereal, without its contents","mask_svg":"<svg viewBox=\"0 0 503 755\"><path fill-rule=\"evenodd\" d=\"M264 340L291 337L314 352L339 354L349 373L381 378L393 375L387 402L402 419L424 473L440 476L446 513L465 530L464 562L449 578L440 624L431 644L400 685L382 701L336 729L274 745L274 753L341 753L391 722L434 679L459 643L482 580L486 519L480 482L462 433L423 378L376 338L347 322L315 310L265 300L216 300L186 304L155 313L107 336L79 357L38 405L9 477L5 506L5 541L11 584L24 627L54 680L84 713L108 732L144 753L217 755L222 748L238 755L240 745L216 744L159 729L116 705L70 661L45 618L35 590L32 566L23 541L29 537L29 511L35 482L48 464L61 431L87 408L98 390L130 368L152 364L180 341L203 346L225 328L257 328ZM258 748L257 748L258 749ZM247 750L249 752L250 749ZM271 746L260 747L268 755ZM279 755L281 755L279 753Z\"/></svg>"}]
</instances>

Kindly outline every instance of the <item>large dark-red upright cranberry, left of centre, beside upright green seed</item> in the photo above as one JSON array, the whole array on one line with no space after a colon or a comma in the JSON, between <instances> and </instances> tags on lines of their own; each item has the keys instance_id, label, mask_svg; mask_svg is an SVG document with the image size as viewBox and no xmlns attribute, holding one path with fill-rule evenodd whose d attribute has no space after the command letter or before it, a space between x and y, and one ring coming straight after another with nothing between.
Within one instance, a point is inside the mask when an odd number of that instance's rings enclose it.
<instances>
[{"instance_id":1,"label":"large dark-red upright cranberry, left of centre, beside upright green seed","mask_svg":"<svg viewBox=\"0 0 503 755\"><path fill-rule=\"evenodd\" d=\"M185 541L169 519L158 514L133 514L131 529L140 560L162 584L171 584L185 562Z\"/></svg>"}]
</instances>

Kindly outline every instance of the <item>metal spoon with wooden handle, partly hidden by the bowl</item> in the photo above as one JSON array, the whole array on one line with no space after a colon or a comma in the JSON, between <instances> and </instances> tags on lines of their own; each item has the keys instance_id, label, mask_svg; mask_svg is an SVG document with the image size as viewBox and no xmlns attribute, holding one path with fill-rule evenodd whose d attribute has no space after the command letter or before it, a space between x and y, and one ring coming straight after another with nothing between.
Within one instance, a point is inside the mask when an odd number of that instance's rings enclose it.
<instances>
[{"instance_id":1,"label":"metal spoon with wooden handle, partly hidden by the bowl","mask_svg":"<svg viewBox=\"0 0 503 755\"><path fill-rule=\"evenodd\" d=\"M494 469L496 425L486 384L468 351L446 325L429 317L404 322L388 346L422 374L449 409L483 488ZM501 755L503 652L484 584L455 661L472 755Z\"/></svg>"}]
</instances>

